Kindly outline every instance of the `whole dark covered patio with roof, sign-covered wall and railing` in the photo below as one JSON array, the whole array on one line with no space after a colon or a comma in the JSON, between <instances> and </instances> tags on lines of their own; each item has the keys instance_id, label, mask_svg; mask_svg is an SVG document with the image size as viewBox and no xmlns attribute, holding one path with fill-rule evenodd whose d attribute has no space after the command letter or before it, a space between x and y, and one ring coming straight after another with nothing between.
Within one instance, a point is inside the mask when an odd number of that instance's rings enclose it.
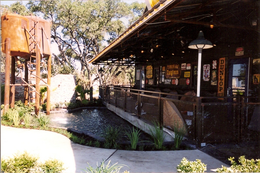
<instances>
[{"instance_id":1,"label":"whole dark covered patio with roof, sign-covered wall and railing","mask_svg":"<svg viewBox=\"0 0 260 173\"><path fill-rule=\"evenodd\" d=\"M135 66L135 85L99 95L140 119L184 125L198 148L259 134L259 9L255 0L158 1L90 61ZM213 46L201 62L189 49L200 31Z\"/></svg>"}]
</instances>

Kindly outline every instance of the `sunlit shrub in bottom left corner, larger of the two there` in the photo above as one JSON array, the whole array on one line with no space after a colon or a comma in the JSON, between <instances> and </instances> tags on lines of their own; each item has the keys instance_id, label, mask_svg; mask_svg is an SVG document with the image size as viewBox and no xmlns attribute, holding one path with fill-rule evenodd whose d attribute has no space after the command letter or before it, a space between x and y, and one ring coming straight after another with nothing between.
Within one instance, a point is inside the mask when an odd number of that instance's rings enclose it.
<instances>
[{"instance_id":1,"label":"sunlit shrub in bottom left corner, larger of the two there","mask_svg":"<svg viewBox=\"0 0 260 173\"><path fill-rule=\"evenodd\" d=\"M33 172L37 165L37 157L29 155L26 151L16 154L14 158L4 160L1 158L1 171L3 172Z\"/></svg>"}]
</instances>

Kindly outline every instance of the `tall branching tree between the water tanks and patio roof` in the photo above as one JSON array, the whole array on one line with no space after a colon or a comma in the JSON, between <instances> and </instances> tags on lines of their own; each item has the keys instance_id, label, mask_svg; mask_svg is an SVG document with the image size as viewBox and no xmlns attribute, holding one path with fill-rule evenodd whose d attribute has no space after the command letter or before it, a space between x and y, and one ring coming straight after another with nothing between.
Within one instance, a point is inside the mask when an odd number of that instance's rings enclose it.
<instances>
[{"instance_id":1,"label":"tall branching tree between the water tanks and patio roof","mask_svg":"<svg viewBox=\"0 0 260 173\"><path fill-rule=\"evenodd\" d=\"M28 8L52 20L51 37L58 44L62 60L67 64L72 59L80 61L81 73L87 76L92 91L95 67L88 62L99 53L102 41L110 42L125 29L119 19L129 14L127 4L118 0L30 1Z\"/></svg>"}]
</instances>

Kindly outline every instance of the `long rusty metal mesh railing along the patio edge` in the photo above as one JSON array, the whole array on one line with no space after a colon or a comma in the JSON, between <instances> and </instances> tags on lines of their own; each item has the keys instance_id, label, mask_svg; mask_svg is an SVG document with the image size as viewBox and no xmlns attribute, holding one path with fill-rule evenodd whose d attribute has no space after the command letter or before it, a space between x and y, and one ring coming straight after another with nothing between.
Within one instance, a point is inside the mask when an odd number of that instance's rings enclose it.
<instances>
[{"instance_id":1,"label":"long rusty metal mesh railing along the patio edge","mask_svg":"<svg viewBox=\"0 0 260 173\"><path fill-rule=\"evenodd\" d=\"M109 104L161 126L182 125L187 137L201 143L239 142L252 117L249 108L260 105L258 97L196 97L135 90L131 87L100 86L102 99Z\"/></svg>"}]
</instances>

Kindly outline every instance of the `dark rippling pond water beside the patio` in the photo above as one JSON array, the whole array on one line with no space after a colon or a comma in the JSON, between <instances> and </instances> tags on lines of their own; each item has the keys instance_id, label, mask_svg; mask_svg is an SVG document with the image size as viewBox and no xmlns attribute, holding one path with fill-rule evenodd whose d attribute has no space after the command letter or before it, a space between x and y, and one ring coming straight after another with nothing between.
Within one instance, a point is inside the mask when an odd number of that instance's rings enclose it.
<instances>
[{"instance_id":1,"label":"dark rippling pond water beside the patio","mask_svg":"<svg viewBox=\"0 0 260 173\"><path fill-rule=\"evenodd\" d=\"M69 114L50 114L49 118L51 126L66 127L78 131L90 131L98 136L103 135L103 131L108 125L120 127L123 140L128 140L125 131L133 129L133 125L130 122L106 108L88 108ZM151 136L142 131L140 139L141 141L151 141Z\"/></svg>"}]
</instances>

